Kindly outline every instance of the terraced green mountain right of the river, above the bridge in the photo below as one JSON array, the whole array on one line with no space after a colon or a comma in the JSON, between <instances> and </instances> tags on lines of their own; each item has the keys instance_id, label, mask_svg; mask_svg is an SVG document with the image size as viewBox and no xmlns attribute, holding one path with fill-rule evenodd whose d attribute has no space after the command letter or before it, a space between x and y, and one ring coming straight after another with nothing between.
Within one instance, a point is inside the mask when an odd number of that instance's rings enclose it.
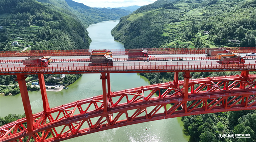
<instances>
[{"instance_id":1,"label":"terraced green mountain right of the river, above the bridge","mask_svg":"<svg viewBox=\"0 0 256 142\"><path fill-rule=\"evenodd\" d=\"M255 47L255 6L256 0L158 0L122 17L111 33L125 48Z\"/></svg>"}]
</instances>

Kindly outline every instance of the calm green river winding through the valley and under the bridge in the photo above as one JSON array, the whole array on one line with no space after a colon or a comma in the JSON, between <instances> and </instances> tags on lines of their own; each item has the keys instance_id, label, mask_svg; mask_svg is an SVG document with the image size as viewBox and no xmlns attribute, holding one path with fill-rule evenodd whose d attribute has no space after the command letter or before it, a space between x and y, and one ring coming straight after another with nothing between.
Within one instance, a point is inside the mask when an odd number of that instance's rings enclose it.
<instances>
[{"instance_id":1,"label":"calm green river winding through the valley and under the bridge","mask_svg":"<svg viewBox=\"0 0 256 142\"><path fill-rule=\"evenodd\" d=\"M123 49L121 42L115 41L111 30L119 21L106 21L90 25L87 29L92 39L90 49ZM148 79L138 73L113 73L111 91L124 90L149 85ZM50 107L102 94L100 74L84 74L67 90L47 91ZM29 91L33 113L43 111L40 91ZM164 109L164 108L162 108ZM0 116L23 114L21 95L0 96ZM146 130L147 129L147 130ZM170 118L115 128L72 138L65 142L187 142L190 136L182 132L181 118Z\"/></svg>"}]
</instances>

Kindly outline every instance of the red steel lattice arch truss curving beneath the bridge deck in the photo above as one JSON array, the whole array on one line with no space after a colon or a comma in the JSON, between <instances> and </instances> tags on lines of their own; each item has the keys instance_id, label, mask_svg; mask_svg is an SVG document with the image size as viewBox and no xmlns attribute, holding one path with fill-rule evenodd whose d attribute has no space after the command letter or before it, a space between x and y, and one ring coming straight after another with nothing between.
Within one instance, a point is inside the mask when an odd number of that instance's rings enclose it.
<instances>
[{"instance_id":1,"label":"red steel lattice arch truss curving beneath the bridge deck","mask_svg":"<svg viewBox=\"0 0 256 142\"><path fill-rule=\"evenodd\" d=\"M188 77L188 74L185 75L185 77ZM18 122L13 122L0 127L0 132L1 134L3 134L0 135L0 141L14 141L19 140L22 137L31 135L33 135L32 137L38 141L39 139L44 140L44 142L53 140L62 141L68 138L90 134L92 132L159 119L213 112L256 109L255 80L256 75L249 75L248 77L225 76L191 79L188 82L188 86L192 87L193 85L195 86L195 84L197 84L203 85L204 88L210 87L210 89L202 91L202 88L200 86L194 88L194 93L188 93L188 97L186 99L184 97L182 98L181 89L178 89L178 86L172 82L116 91L110 95L111 103L110 108L107 112L104 112L104 108L102 108L104 102L103 95L79 100L73 103L52 108L46 114L44 114L43 112L35 114L34 118L37 125L33 132L17 131L17 125L23 126L23 123L26 122L26 119L22 119ZM225 82L228 81L231 85L226 87L227 89L221 89L222 85L224 85ZM240 89L240 87L238 87L240 83L246 83L244 89ZM178 81L178 84L184 85L186 84L186 81ZM152 94L154 94L155 91L159 89L172 90L173 92L165 91L168 93L161 94L161 97L154 97ZM147 97L144 97L143 91L149 90L151 91L151 93ZM116 103L113 103L113 98L119 99ZM127 102L121 103L122 98L126 98ZM227 101L228 99L231 100ZM187 102L190 101L193 105L186 106ZM210 103L207 103L208 101L210 101ZM102 103L102 105L97 105L97 103ZM173 105L170 109L167 109L166 105L169 103L174 103L175 105ZM88 108L90 106L94 106L95 109L88 111ZM179 106L182 106L182 110L177 110ZM148 108L151 107L154 107L154 109L152 111L148 110ZM163 107L164 112L159 112L160 108ZM74 111L76 109L79 109L78 114L74 114ZM133 113L133 115L129 115L130 117L128 117L129 110L136 111ZM52 113L56 112L63 113L64 117L53 117ZM113 117L114 113L117 114L115 117ZM141 116L140 114L143 113L145 113L145 115ZM125 114L126 118L118 120L122 114ZM95 118L98 119L96 124L91 123L91 119ZM46 124L46 121L49 121L50 123ZM89 128L81 129L84 123L87 123L89 125ZM64 130L66 126L69 127L68 131L63 131L60 134L57 134L55 132L56 127L63 127ZM6 136L6 132L4 130L13 131L13 134L11 134L10 136ZM43 132L43 134L45 135L42 135L42 137L40 138L37 135L39 132ZM46 135L49 132L53 134L53 138L47 139Z\"/></svg>"}]
</instances>

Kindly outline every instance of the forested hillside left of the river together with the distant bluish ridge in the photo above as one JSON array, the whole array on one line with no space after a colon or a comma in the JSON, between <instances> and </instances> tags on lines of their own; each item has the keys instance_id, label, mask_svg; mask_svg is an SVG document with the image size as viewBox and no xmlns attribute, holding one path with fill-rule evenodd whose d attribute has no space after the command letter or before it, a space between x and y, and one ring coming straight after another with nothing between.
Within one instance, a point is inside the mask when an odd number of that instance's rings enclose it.
<instances>
[{"instance_id":1,"label":"forested hillside left of the river together with the distant bluish ridge","mask_svg":"<svg viewBox=\"0 0 256 142\"><path fill-rule=\"evenodd\" d=\"M89 49L86 28L104 20L116 20L130 11L91 8L72 0L0 1L0 51ZM40 3L43 2L43 3ZM11 46L18 41L20 46Z\"/></svg>"}]
</instances>

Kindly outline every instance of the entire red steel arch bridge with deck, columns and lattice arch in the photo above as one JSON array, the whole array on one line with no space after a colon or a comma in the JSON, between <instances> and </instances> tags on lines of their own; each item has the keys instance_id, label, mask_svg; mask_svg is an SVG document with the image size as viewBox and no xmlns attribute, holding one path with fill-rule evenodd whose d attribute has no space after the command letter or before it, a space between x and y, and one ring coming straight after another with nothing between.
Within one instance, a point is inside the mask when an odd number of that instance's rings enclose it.
<instances>
[{"instance_id":1,"label":"entire red steel arch bridge with deck, columns and lattice arch","mask_svg":"<svg viewBox=\"0 0 256 142\"><path fill-rule=\"evenodd\" d=\"M251 49L245 50L247 52ZM16 57L13 54L20 53L1 53L0 56ZM212 60L163 61L162 59L150 62L122 60L115 62L113 66L89 66L86 61L59 62L63 61L56 61L48 67L26 68L20 64L21 61L0 61L5 63L0 66L0 75L17 76L16 81L20 87L26 114L26 118L0 127L1 142L21 142L32 139L36 142L57 142L159 119L256 109L256 75L249 75L249 71L256 71L255 60L246 60L245 64L241 65L223 65ZM190 72L220 71L240 71L241 74L200 79L191 79L190 76ZM174 72L174 81L111 91L111 73L132 72ZM179 72L183 73L182 81L178 80ZM102 95L50 108L43 74L70 73L100 73ZM32 113L30 106L25 81L28 74L36 74L39 78L43 111L37 114ZM154 96L155 93L159 95ZM170 103L173 104L172 107L166 107ZM53 137L48 138L49 134Z\"/></svg>"}]
</instances>

